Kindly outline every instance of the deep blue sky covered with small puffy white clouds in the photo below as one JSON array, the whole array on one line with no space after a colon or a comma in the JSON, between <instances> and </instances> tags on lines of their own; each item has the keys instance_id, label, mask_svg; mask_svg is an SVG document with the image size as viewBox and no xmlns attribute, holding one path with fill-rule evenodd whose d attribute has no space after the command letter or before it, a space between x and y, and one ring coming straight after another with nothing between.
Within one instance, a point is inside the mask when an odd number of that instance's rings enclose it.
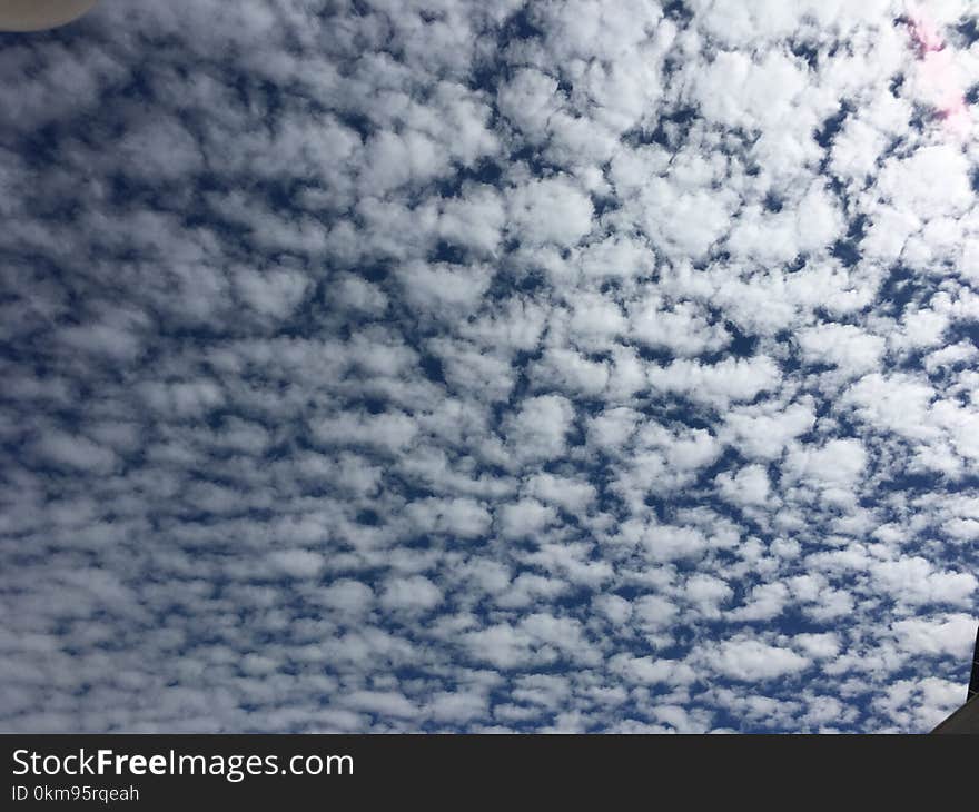
<instances>
[{"instance_id":1,"label":"deep blue sky covered with small puffy white clouds","mask_svg":"<svg viewBox=\"0 0 979 812\"><path fill-rule=\"evenodd\" d=\"M928 731L977 625L977 14L0 34L0 729Z\"/></svg>"}]
</instances>

